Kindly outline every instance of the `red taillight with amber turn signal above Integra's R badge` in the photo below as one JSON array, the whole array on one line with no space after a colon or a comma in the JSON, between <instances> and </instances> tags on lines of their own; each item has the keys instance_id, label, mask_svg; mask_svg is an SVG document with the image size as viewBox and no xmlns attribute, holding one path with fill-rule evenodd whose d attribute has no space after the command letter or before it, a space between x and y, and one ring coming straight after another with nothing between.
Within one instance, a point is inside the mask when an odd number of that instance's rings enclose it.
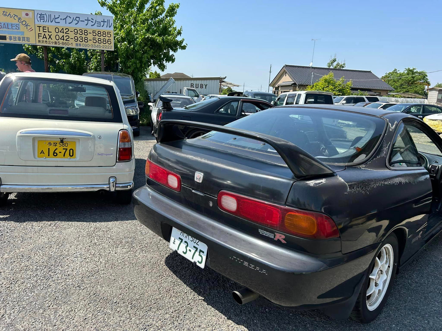
<instances>
[{"instance_id":1,"label":"red taillight with amber turn signal above Integra's R badge","mask_svg":"<svg viewBox=\"0 0 442 331\"><path fill-rule=\"evenodd\" d=\"M217 202L222 211L297 237L339 237L335 222L321 213L279 206L227 191L218 193Z\"/></svg>"}]
</instances>

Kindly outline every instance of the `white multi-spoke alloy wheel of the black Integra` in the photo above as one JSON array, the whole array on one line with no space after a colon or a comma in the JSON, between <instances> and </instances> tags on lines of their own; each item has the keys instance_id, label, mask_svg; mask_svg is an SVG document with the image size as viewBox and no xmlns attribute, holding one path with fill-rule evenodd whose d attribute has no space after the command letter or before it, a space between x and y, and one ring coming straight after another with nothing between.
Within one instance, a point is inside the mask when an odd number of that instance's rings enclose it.
<instances>
[{"instance_id":1,"label":"white multi-spoke alloy wheel of the black Integra","mask_svg":"<svg viewBox=\"0 0 442 331\"><path fill-rule=\"evenodd\" d=\"M394 253L391 244L385 244L374 260L373 270L369 277L367 288L367 308L375 310L382 302L387 292L390 278L392 275L392 266L394 262Z\"/></svg>"}]
</instances>

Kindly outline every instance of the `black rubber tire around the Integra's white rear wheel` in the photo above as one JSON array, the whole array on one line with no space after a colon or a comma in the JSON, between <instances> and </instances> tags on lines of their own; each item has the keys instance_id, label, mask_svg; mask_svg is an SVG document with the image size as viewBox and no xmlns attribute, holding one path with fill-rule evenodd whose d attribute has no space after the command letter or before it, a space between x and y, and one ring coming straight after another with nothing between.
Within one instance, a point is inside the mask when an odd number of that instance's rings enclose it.
<instances>
[{"instance_id":1,"label":"black rubber tire around the Integra's white rear wheel","mask_svg":"<svg viewBox=\"0 0 442 331\"><path fill-rule=\"evenodd\" d=\"M390 269L390 278L389 283L387 285L387 290L385 291L385 294L381 298L380 303L377 305L377 307L373 310L370 310L368 308L367 303L367 290L369 287L370 282L370 273L373 271L373 267L376 261L376 258L381 254L382 248L386 247L386 245L389 244L392 248L393 252L393 263L392 266L389 267ZM398 248L398 242L397 237L394 233L390 234L385 240L382 242L380 247L378 248L376 255L373 258L373 261L370 263L370 267L368 268L366 279L364 280L364 283L362 284L361 292L358 295L358 299L356 300L356 303L353 307L353 311L351 312L350 317L353 320L356 320L361 323L370 323L373 321L382 311L382 308L384 308L385 303L387 302L387 299L389 297L390 291L393 286L394 278L396 277L396 269L397 269L397 261L399 258L399 248Z\"/></svg>"}]
</instances>

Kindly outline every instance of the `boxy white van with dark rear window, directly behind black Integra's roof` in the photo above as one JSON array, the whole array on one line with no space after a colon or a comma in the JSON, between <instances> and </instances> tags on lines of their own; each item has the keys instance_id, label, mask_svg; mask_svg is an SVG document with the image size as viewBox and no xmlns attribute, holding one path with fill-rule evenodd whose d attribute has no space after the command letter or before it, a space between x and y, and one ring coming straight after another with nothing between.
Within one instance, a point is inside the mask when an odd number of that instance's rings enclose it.
<instances>
[{"instance_id":1,"label":"boxy white van with dark rear window, directly behind black Integra's roof","mask_svg":"<svg viewBox=\"0 0 442 331\"><path fill-rule=\"evenodd\" d=\"M305 105L321 104L333 105L333 93L324 91L294 91L285 92L278 95L276 101L272 101L275 106L282 105Z\"/></svg>"}]
</instances>

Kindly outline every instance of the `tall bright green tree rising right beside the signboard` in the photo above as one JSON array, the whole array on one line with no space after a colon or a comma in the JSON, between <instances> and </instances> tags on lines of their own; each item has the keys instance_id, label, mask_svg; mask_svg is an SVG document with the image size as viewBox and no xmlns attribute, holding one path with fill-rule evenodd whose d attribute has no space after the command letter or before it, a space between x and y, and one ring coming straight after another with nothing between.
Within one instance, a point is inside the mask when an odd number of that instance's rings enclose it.
<instances>
[{"instance_id":1,"label":"tall bright green tree rising right beside the signboard","mask_svg":"<svg viewBox=\"0 0 442 331\"><path fill-rule=\"evenodd\" d=\"M179 39L182 27L175 26L179 4L167 8L164 0L98 0L114 15L114 51L105 51L105 67L131 75L135 83L144 81L149 68L166 69L175 62L174 53L186 49ZM100 54L91 52L89 70L101 66Z\"/></svg>"}]
</instances>

